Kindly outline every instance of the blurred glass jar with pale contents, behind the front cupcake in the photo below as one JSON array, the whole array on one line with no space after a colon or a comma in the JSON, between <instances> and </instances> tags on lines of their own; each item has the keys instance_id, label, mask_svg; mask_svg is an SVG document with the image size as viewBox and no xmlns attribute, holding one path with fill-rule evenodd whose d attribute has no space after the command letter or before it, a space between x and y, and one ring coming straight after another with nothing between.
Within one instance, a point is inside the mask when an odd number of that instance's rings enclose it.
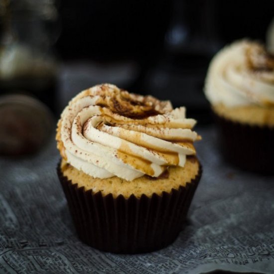
<instances>
[{"instance_id":1,"label":"blurred glass jar with pale contents, behind the front cupcake","mask_svg":"<svg viewBox=\"0 0 274 274\"><path fill-rule=\"evenodd\" d=\"M54 0L0 0L0 16L0 94L28 94L54 111L58 66L52 45L60 33Z\"/></svg>"}]
</instances>

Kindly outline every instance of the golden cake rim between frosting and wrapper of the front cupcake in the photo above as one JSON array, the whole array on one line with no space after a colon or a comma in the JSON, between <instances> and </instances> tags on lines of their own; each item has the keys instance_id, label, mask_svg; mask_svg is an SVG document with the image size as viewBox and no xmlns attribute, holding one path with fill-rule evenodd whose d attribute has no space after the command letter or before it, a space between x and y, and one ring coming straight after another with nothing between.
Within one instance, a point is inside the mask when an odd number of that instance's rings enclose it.
<instances>
[{"instance_id":1,"label":"golden cake rim between frosting and wrapper of the front cupcake","mask_svg":"<svg viewBox=\"0 0 274 274\"><path fill-rule=\"evenodd\" d=\"M117 176L100 179L94 178L81 170L68 164L64 159L61 161L61 170L72 183L78 183L78 187L85 187L85 190L93 189L94 192L101 191L103 195L113 194L114 198L122 194L129 198L134 194L140 198L142 194L151 197L153 193L161 195L163 191L171 192L172 188L178 189L191 182L199 172L199 162L196 157L187 157L184 167L169 167L168 178L157 179L149 176L141 176L133 181L127 181Z\"/></svg>"}]
</instances>

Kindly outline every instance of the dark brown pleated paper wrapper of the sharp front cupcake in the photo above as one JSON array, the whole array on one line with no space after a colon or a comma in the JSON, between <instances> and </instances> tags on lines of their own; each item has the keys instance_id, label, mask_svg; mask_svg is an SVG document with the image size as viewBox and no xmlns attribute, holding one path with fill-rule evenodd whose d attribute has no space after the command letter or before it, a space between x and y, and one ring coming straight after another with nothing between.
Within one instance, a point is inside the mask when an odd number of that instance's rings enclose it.
<instances>
[{"instance_id":1,"label":"dark brown pleated paper wrapper of the sharp front cupcake","mask_svg":"<svg viewBox=\"0 0 274 274\"><path fill-rule=\"evenodd\" d=\"M151 197L123 195L114 198L101 192L85 191L57 173L62 184L79 238L86 244L107 252L136 254L161 249L172 243L184 225L194 192L201 177Z\"/></svg>"}]
</instances>

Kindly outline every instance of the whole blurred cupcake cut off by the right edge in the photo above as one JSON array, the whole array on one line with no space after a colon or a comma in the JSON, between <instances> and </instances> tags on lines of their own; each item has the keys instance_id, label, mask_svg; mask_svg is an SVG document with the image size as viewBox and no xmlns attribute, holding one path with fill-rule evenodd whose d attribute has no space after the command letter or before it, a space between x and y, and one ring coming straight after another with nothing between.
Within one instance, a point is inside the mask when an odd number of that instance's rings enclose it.
<instances>
[{"instance_id":1,"label":"whole blurred cupcake cut off by the right edge","mask_svg":"<svg viewBox=\"0 0 274 274\"><path fill-rule=\"evenodd\" d=\"M205 95L232 164L274 173L274 56L254 41L226 46L210 63Z\"/></svg>"}]
</instances>

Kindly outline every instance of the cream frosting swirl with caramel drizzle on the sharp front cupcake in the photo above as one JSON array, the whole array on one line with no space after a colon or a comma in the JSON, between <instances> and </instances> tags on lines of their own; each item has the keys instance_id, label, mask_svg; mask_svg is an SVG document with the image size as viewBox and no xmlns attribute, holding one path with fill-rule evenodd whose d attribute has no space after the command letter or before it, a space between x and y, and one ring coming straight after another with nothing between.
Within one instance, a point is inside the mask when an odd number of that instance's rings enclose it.
<instances>
[{"instance_id":1,"label":"cream frosting swirl with caramel drizzle on the sharp front cupcake","mask_svg":"<svg viewBox=\"0 0 274 274\"><path fill-rule=\"evenodd\" d=\"M68 163L93 177L157 177L195 154L195 123L169 101L103 84L69 102L58 123L57 147Z\"/></svg>"}]
</instances>

